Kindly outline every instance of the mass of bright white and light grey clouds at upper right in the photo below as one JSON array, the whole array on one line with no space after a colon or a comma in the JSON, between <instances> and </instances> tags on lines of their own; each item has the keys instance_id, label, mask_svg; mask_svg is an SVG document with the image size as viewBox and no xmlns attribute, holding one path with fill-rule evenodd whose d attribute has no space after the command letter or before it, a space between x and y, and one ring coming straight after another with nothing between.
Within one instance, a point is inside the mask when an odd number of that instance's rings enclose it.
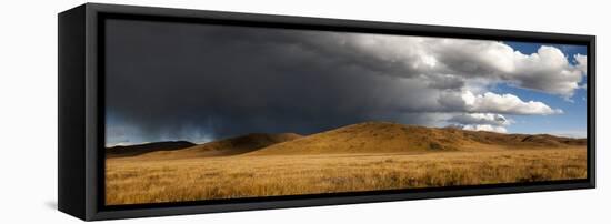
<instances>
[{"instance_id":1,"label":"mass of bright white and light grey clouds at upper right","mask_svg":"<svg viewBox=\"0 0 611 224\"><path fill-rule=\"evenodd\" d=\"M503 114L562 113L544 102L491 92L499 83L570 100L587 72L585 55L573 55L570 63L570 55L548 45L524 54L487 40L362 33L309 40L319 48L324 43L320 51L349 55L352 61L335 61L341 65L394 79L387 84L387 96L375 99L377 104L395 105L403 113L448 113L451 119L443 121L468 130L507 132L511 121L501 121ZM338 42L342 48L333 48Z\"/></svg>"}]
</instances>

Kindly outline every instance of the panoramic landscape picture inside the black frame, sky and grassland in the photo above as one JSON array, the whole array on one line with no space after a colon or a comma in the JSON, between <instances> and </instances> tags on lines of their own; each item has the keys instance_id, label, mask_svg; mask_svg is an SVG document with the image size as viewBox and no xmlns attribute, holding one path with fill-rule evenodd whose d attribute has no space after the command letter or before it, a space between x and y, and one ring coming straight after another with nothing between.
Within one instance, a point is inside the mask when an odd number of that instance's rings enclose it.
<instances>
[{"instance_id":1,"label":"panoramic landscape picture inside the black frame, sky and grassland","mask_svg":"<svg viewBox=\"0 0 611 224\"><path fill-rule=\"evenodd\" d=\"M106 205L588 175L585 45L104 29Z\"/></svg>"}]
</instances>

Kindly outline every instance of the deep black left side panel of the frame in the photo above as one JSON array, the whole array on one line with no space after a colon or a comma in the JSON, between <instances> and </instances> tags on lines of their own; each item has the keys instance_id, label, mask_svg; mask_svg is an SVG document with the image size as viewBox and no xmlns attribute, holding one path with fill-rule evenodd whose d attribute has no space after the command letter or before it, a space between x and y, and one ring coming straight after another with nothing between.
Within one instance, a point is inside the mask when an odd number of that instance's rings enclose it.
<instances>
[{"instance_id":1,"label":"deep black left side panel of the frame","mask_svg":"<svg viewBox=\"0 0 611 224\"><path fill-rule=\"evenodd\" d=\"M58 13L58 210L84 220L84 6Z\"/></svg>"}]
</instances>

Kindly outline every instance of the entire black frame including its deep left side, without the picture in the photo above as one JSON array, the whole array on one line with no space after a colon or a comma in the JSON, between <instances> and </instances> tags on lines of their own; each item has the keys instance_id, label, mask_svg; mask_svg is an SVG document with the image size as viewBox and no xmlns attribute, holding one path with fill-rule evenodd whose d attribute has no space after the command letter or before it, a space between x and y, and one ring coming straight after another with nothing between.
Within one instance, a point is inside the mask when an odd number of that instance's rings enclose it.
<instances>
[{"instance_id":1,"label":"entire black frame including its deep left side, without the picture","mask_svg":"<svg viewBox=\"0 0 611 224\"><path fill-rule=\"evenodd\" d=\"M548 181L529 184L492 184L107 206L103 204L104 70L102 67L104 55L103 22L107 18L585 44L588 47L588 177L585 180ZM58 208L86 221L595 187L594 35L99 3L86 3L61 12L58 16Z\"/></svg>"}]
</instances>

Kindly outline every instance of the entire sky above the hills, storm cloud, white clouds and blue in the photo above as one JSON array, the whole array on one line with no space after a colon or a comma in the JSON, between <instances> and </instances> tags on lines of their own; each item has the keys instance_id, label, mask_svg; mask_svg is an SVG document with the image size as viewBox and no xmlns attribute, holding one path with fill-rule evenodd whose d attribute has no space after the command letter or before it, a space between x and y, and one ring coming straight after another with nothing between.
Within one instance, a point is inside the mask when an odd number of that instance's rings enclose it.
<instances>
[{"instance_id":1,"label":"entire sky above the hills, storm cloud, white clouds and blue","mask_svg":"<svg viewBox=\"0 0 611 224\"><path fill-rule=\"evenodd\" d=\"M365 121L584 138L587 48L106 22L107 146Z\"/></svg>"}]
</instances>

